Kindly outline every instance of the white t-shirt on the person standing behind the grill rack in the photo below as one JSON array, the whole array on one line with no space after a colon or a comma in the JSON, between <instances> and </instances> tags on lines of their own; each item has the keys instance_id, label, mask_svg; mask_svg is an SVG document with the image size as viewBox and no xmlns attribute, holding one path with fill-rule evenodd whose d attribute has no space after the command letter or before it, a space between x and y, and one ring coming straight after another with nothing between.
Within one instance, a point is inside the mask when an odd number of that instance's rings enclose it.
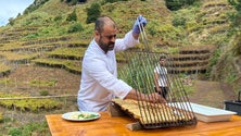
<instances>
[{"instance_id":1,"label":"white t-shirt on the person standing behind the grill rack","mask_svg":"<svg viewBox=\"0 0 241 136\"><path fill-rule=\"evenodd\" d=\"M167 86L167 70L160 64L154 70L155 73L158 74L158 86L166 87Z\"/></svg>"}]
</instances>

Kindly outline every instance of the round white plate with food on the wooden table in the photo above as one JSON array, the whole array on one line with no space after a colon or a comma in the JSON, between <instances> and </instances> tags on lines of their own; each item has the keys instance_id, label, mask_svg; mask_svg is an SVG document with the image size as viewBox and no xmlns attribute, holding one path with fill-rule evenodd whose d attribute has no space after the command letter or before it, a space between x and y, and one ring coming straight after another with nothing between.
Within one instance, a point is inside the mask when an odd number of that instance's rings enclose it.
<instances>
[{"instance_id":1,"label":"round white plate with food on the wooden table","mask_svg":"<svg viewBox=\"0 0 241 136\"><path fill-rule=\"evenodd\" d=\"M87 115L87 118L79 118L79 115ZM100 113L90 111L73 111L62 114L62 119L67 121L92 121L100 116Z\"/></svg>"}]
</instances>

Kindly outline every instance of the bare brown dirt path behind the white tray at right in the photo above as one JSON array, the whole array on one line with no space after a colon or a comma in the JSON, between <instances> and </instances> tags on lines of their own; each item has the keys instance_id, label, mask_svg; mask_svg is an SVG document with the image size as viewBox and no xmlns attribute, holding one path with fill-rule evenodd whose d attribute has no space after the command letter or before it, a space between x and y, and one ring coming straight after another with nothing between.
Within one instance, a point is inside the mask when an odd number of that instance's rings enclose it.
<instances>
[{"instance_id":1,"label":"bare brown dirt path behind the white tray at right","mask_svg":"<svg viewBox=\"0 0 241 136\"><path fill-rule=\"evenodd\" d=\"M224 83L195 81L194 87L195 92L189 96L191 102L223 109L225 100L236 99L233 89Z\"/></svg>"}]
</instances>

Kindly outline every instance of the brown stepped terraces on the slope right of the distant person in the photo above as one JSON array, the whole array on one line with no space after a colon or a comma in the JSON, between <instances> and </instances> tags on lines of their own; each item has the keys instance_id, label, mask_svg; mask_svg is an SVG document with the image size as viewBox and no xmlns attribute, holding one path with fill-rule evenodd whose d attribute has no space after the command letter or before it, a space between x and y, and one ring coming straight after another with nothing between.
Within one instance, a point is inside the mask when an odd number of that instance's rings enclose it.
<instances>
[{"instance_id":1,"label":"brown stepped terraces on the slope right of the distant person","mask_svg":"<svg viewBox=\"0 0 241 136\"><path fill-rule=\"evenodd\" d=\"M178 54L169 57L167 66L170 73L198 74L205 73L215 46L183 47Z\"/></svg>"}]
</instances>

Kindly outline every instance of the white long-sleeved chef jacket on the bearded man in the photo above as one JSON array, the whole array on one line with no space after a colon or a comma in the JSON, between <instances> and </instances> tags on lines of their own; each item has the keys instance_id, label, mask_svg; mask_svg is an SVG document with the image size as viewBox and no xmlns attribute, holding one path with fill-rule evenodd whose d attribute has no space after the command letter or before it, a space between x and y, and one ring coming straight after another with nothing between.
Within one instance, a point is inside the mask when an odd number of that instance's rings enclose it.
<instances>
[{"instance_id":1,"label":"white long-sleeved chef jacket on the bearded man","mask_svg":"<svg viewBox=\"0 0 241 136\"><path fill-rule=\"evenodd\" d=\"M78 108L81 111L105 111L110 101L118 97L125 98L132 89L117 78L115 52L134 47L139 41L132 32L123 39L115 40L114 50L105 53L93 39L85 52L81 81L78 91Z\"/></svg>"}]
</instances>

